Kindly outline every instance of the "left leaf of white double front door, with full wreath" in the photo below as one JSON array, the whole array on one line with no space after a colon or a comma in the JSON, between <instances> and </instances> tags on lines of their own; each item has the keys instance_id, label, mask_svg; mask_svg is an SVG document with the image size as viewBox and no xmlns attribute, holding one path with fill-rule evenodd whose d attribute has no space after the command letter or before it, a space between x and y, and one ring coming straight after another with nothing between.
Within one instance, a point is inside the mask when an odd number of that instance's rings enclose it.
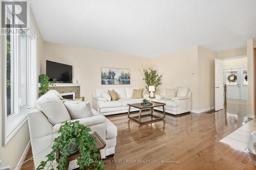
<instances>
[{"instance_id":1,"label":"left leaf of white double front door, with full wreath","mask_svg":"<svg viewBox=\"0 0 256 170\"><path fill-rule=\"evenodd\" d=\"M240 69L225 69L224 80L227 85L227 99L240 100Z\"/></svg>"}]
</instances>

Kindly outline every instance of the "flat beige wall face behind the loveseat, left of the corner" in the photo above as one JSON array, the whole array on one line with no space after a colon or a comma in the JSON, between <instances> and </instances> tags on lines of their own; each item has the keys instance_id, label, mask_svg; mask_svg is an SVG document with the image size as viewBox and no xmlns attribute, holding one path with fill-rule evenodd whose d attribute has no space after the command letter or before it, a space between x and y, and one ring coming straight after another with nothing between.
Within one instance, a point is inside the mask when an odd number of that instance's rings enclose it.
<instances>
[{"instance_id":1,"label":"flat beige wall face behind the loveseat, left of the corner","mask_svg":"<svg viewBox=\"0 0 256 170\"><path fill-rule=\"evenodd\" d=\"M164 88L177 85L188 87L192 92L192 107L196 107L196 83L198 80L198 46L186 48L170 54L165 54L152 59L153 68L163 75L162 85L157 93L162 93ZM195 76L191 76L194 74Z\"/></svg>"}]
</instances>

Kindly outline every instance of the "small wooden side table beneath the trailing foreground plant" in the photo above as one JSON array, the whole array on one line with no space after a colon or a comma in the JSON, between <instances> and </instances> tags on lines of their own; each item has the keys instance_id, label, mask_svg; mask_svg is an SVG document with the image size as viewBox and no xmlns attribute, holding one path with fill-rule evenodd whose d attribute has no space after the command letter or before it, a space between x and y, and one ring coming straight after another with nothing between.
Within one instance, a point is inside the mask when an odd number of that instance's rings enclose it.
<instances>
[{"instance_id":1,"label":"small wooden side table beneath the trailing foreground plant","mask_svg":"<svg viewBox=\"0 0 256 170\"><path fill-rule=\"evenodd\" d=\"M97 132L94 132L93 134L91 134L94 138L95 138L95 145L96 145L96 148L98 149L98 153L100 154L100 150L102 150L103 148L105 148L106 146L106 143L104 142L104 140L98 135ZM56 161L58 162L59 161L59 154L60 153L56 153ZM80 152L79 150L77 152L75 152L74 154L71 154L69 157L68 157L68 166L66 167L66 170L68 170L68 167L69 167L69 163L73 160L75 160L76 158L78 158L80 156ZM76 168L77 170L79 168Z\"/></svg>"}]
</instances>

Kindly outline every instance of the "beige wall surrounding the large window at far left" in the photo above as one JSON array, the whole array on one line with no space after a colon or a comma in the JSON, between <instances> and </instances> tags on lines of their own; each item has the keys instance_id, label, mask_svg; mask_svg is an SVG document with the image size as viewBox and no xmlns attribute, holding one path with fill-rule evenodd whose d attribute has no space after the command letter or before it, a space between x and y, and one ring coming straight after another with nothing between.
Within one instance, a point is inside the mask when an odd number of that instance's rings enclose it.
<instances>
[{"instance_id":1,"label":"beige wall surrounding the large window at far left","mask_svg":"<svg viewBox=\"0 0 256 170\"><path fill-rule=\"evenodd\" d=\"M32 11L32 10L30 10ZM37 66L38 66L38 74L40 70L40 58L42 58L42 50L43 50L43 44L44 41L42 40L40 31L37 27L36 21L34 20L34 16L31 13L30 16L31 22L35 26L35 30L37 32ZM2 45L1 45L2 47ZM1 60L1 65L3 65ZM2 68L2 67L1 67ZM2 69L1 76L3 75ZM1 79L3 80L3 79ZM2 85L2 84L1 84ZM2 88L0 90L1 96L3 95ZM2 98L0 99L0 109L2 110ZM2 133L3 128L3 122L2 122L2 116L0 116L0 134ZM0 135L0 139L2 141L2 135ZM3 166L16 166L18 164L18 161L22 157L27 144L29 143L29 129L28 129L28 123L26 122L19 130L18 132L12 137L12 139L5 145L0 147L0 154L2 154L2 165ZM1 158L1 157L0 157ZM0 159L1 160L1 159Z\"/></svg>"}]
</instances>

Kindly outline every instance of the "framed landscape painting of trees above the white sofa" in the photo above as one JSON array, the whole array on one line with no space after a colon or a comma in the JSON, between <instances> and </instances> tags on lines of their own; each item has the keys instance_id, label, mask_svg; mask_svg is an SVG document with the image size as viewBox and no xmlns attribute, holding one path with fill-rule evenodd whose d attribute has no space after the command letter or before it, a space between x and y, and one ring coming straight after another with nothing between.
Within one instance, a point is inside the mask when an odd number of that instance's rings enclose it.
<instances>
[{"instance_id":1,"label":"framed landscape painting of trees above the white sofa","mask_svg":"<svg viewBox=\"0 0 256 170\"><path fill-rule=\"evenodd\" d=\"M130 84L131 70L101 67L101 85Z\"/></svg>"}]
</instances>

